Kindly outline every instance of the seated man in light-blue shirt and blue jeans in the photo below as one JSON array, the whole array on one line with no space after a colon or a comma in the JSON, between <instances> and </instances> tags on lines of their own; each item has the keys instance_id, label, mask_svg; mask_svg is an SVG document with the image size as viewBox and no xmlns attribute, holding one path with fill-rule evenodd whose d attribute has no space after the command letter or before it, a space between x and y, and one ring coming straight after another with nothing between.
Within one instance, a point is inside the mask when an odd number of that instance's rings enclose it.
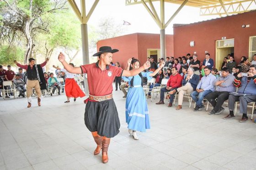
<instances>
[{"instance_id":1,"label":"seated man in light-blue shirt and blue jeans","mask_svg":"<svg viewBox=\"0 0 256 170\"><path fill-rule=\"evenodd\" d=\"M213 82L216 80L216 77L211 73L210 68L204 67L204 76L201 81L198 83L195 91L191 93L192 99L196 102L196 107L194 111L200 111L204 108L203 98L209 93L214 92Z\"/></svg>"}]
</instances>

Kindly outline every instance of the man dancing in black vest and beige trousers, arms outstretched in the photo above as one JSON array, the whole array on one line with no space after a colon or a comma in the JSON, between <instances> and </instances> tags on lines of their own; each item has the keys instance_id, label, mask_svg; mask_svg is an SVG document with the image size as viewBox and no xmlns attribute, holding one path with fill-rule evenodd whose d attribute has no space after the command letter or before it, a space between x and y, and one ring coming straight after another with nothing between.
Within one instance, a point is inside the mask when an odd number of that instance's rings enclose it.
<instances>
[{"instance_id":1,"label":"man dancing in black vest and beige trousers, arms outstretched","mask_svg":"<svg viewBox=\"0 0 256 170\"><path fill-rule=\"evenodd\" d=\"M27 70L27 108L31 107L31 95L32 95L32 90L35 88L36 93L37 93L37 104L38 106L41 106L41 89L46 89L46 82L43 76L43 69L48 62L48 58L46 58L45 62L42 64L35 64L35 59L29 58L29 65L21 65L18 63L16 60L14 60L14 63L23 69ZM41 86L41 87L40 87Z\"/></svg>"}]
</instances>

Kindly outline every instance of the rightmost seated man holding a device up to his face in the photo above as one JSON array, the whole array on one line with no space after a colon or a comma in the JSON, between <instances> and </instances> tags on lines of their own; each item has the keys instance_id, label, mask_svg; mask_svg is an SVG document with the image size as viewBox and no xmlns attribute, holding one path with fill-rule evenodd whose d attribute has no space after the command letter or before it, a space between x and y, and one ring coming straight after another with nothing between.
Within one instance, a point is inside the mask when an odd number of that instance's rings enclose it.
<instances>
[{"instance_id":1,"label":"rightmost seated man holding a device up to his face","mask_svg":"<svg viewBox=\"0 0 256 170\"><path fill-rule=\"evenodd\" d=\"M240 72L234 80L235 87L238 87L237 93L229 95L229 114L224 119L235 118L234 108L235 102L240 102L240 114L242 114L241 123L248 120L247 117L247 104L256 102L256 65L250 66L248 76L242 76Z\"/></svg>"}]
</instances>

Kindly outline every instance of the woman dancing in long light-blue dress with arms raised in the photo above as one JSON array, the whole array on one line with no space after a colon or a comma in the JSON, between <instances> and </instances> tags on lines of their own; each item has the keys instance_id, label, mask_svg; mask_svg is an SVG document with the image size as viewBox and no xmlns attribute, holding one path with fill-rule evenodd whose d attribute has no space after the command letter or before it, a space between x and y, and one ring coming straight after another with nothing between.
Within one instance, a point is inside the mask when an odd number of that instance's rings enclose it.
<instances>
[{"instance_id":1,"label":"woman dancing in long light-blue dress with arms raised","mask_svg":"<svg viewBox=\"0 0 256 170\"><path fill-rule=\"evenodd\" d=\"M133 77L122 77L124 81L129 82L129 90L126 97L125 115L128 123L128 132L133 135L135 140L138 140L136 131L146 132L150 129L148 105L143 91L142 77L147 77L148 80L155 76L165 65L165 62L160 63L160 67L155 72L141 72ZM139 68L140 62L138 59L129 59L127 70Z\"/></svg>"}]
</instances>

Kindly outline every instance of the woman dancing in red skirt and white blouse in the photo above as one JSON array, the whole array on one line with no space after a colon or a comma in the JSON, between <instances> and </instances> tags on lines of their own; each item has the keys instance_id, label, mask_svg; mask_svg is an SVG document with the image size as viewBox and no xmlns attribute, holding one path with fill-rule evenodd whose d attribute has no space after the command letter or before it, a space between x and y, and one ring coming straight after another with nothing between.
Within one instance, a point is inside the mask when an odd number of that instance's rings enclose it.
<instances>
[{"instance_id":1,"label":"woman dancing in red skirt and white blouse","mask_svg":"<svg viewBox=\"0 0 256 170\"><path fill-rule=\"evenodd\" d=\"M74 67L73 63L69 63L69 65ZM64 103L69 103L70 102L69 98L74 98L74 102L75 102L76 98L78 97L82 98L85 96L85 93L80 89L77 82L75 82L74 77L76 76L76 74L67 72L66 69L55 67L54 65L53 65L53 68L56 68L61 72L65 72L67 75L65 79L65 92L67 96L67 101L65 101Z\"/></svg>"}]
</instances>

